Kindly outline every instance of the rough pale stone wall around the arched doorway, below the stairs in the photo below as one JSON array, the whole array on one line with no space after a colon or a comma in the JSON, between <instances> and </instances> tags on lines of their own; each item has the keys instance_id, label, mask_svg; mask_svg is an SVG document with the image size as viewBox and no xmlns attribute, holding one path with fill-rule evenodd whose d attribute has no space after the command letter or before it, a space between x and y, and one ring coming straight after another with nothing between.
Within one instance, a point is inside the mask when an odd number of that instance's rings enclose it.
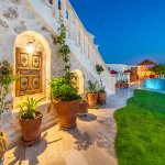
<instances>
[{"instance_id":1,"label":"rough pale stone wall around the arched doorway, below the stairs","mask_svg":"<svg viewBox=\"0 0 165 165\"><path fill-rule=\"evenodd\" d=\"M0 61L8 59L13 66L15 65L15 47L23 44L18 44L15 41L20 34L25 32L28 32L30 37L34 36L35 33L36 40L43 43L42 46L44 46L44 42L42 42L42 38L47 42L51 52L51 70L48 70L51 73L51 79L62 76L63 62L61 55L57 53L57 45L53 43L52 40L52 34L54 34L53 30L42 20L42 18L37 15L37 13L35 13L35 11L33 11L33 9L26 3L25 0L0 1ZM25 41L22 40L22 42ZM46 58L47 54L44 53L44 55ZM70 57L70 63L72 69L79 69L84 74L85 85L87 85L87 81L89 79L95 80L95 78L92 78L92 75L90 75L89 72L80 65L80 63L73 54ZM44 67L48 68L48 66L46 65ZM46 78L44 79L44 81L46 84ZM46 89L45 92L47 92ZM14 99L14 86L11 86L8 101L13 105ZM21 100L23 98L21 98ZM54 120L54 118L57 118L55 112L51 112L50 114L46 113L46 109L48 109L48 107L50 100L46 99L44 102L42 102L42 106L40 108L45 114L43 120L43 124L45 125L45 128L48 127L48 122L50 125L53 124L54 122L52 122L52 120ZM3 114L2 128L8 133L10 143L12 142L12 144L10 145L13 145L13 143L20 138L18 117L19 109L8 109Z\"/></svg>"}]
</instances>

